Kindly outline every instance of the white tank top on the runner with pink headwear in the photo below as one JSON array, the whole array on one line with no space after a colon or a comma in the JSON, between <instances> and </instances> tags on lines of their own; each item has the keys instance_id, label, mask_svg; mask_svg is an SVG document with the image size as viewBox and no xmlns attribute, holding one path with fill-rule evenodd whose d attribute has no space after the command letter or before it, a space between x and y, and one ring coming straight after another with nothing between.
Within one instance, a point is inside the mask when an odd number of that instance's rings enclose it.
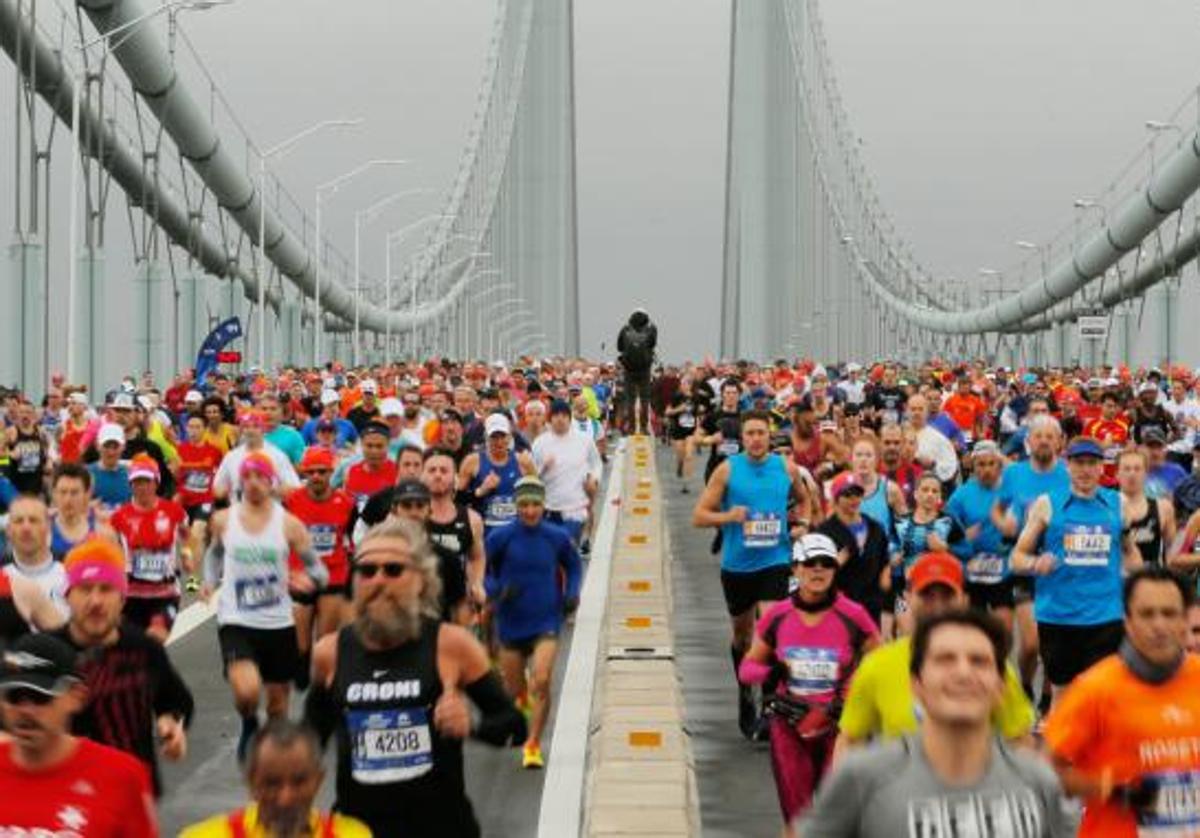
<instances>
[{"instance_id":1,"label":"white tank top on the runner with pink headwear","mask_svg":"<svg viewBox=\"0 0 1200 838\"><path fill-rule=\"evenodd\" d=\"M218 625L280 629L293 624L288 594L288 539L284 513L271 502L271 517L260 533L241 523L242 504L229 507L224 538L224 571L217 599Z\"/></svg>"}]
</instances>

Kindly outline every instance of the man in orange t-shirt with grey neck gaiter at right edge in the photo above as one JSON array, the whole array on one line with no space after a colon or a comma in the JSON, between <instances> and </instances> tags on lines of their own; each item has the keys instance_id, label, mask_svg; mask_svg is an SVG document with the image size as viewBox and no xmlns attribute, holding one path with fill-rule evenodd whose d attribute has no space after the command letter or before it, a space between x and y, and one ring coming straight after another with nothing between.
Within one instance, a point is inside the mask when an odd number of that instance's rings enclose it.
<instances>
[{"instance_id":1,"label":"man in orange t-shirt with grey neck gaiter at right edge","mask_svg":"<svg viewBox=\"0 0 1200 838\"><path fill-rule=\"evenodd\" d=\"M1159 565L1126 580L1121 650L1079 676L1045 725L1079 834L1200 834L1200 657L1187 654L1192 587Z\"/></svg>"}]
</instances>

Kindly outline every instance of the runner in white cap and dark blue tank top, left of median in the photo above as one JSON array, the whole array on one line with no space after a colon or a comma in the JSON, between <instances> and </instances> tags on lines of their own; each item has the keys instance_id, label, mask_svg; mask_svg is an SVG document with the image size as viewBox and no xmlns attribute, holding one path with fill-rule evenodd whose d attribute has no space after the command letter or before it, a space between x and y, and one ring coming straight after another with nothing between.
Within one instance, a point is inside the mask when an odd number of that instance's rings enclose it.
<instances>
[{"instance_id":1,"label":"runner in white cap and dark blue tank top, left of median","mask_svg":"<svg viewBox=\"0 0 1200 838\"><path fill-rule=\"evenodd\" d=\"M484 420L484 448L462 461L458 485L482 516L486 534L516 520L516 483L523 474L536 474L538 468L528 451L512 450L512 426L503 413Z\"/></svg>"}]
</instances>

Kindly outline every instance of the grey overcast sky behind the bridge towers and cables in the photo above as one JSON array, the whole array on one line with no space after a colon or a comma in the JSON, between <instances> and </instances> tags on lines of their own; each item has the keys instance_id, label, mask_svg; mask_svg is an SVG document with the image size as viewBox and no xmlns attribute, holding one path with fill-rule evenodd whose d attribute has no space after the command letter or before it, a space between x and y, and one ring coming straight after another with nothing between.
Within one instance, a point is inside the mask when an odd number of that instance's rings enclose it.
<instances>
[{"instance_id":1,"label":"grey overcast sky behind the bridge towers and cables","mask_svg":"<svg viewBox=\"0 0 1200 838\"><path fill-rule=\"evenodd\" d=\"M1010 264L1014 239L1069 223L1073 198L1103 187L1145 139L1144 120L1169 113L1200 79L1194 0L822 7L883 203L938 275ZM384 233L436 211L452 180L493 12L485 0L238 0L185 26L263 145L320 119L367 119L280 163L306 205L317 182L368 157L414 161L334 199L328 229L343 251L354 209L398 188L437 190L372 227L366 265L379 276ZM728 0L576 0L587 352L601 341L611 351L636 304L660 322L668 357L716 348L728 22ZM0 84L4 113L11 97ZM0 167L0 185L10 170ZM109 238L124 243L116 209ZM0 202L0 223L11 226L11 211Z\"/></svg>"}]
</instances>

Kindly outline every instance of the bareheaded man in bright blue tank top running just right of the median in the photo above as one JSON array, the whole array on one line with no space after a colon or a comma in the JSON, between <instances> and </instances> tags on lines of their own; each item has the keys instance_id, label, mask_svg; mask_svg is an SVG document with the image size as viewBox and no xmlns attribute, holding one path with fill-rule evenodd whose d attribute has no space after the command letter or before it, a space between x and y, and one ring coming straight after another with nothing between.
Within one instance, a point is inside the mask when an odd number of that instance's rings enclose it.
<instances>
[{"instance_id":1,"label":"bareheaded man in bright blue tank top running just right of the median","mask_svg":"<svg viewBox=\"0 0 1200 838\"><path fill-rule=\"evenodd\" d=\"M733 676L754 639L756 609L787 597L793 533L806 532L816 498L794 463L770 453L770 414L742 415L743 453L716 467L692 511L692 526L721 527L721 587L733 624ZM787 503L797 504L790 526ZM746 737L757 726L750 688L738 686L738 726Z\"/></svg>"}]
</instances>

